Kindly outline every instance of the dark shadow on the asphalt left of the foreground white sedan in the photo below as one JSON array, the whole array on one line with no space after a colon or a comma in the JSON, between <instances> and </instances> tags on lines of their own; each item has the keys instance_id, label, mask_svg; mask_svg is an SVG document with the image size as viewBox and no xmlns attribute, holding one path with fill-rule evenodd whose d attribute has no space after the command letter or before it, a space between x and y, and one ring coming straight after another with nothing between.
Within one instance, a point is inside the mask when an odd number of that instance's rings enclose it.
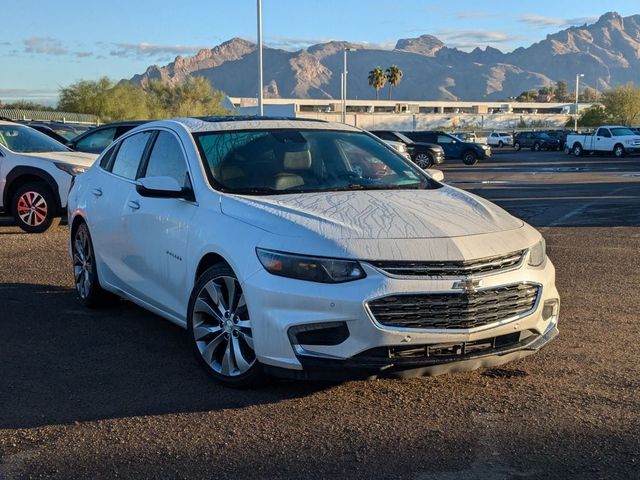
<instances>
[{"instance_id":1,"label":"dark shadow on the asphalt left of the foreground white sedan","mask_svg":"<svg viewBox=\"0 0 640 480\"><path fill-rule=\"evenodd\" d=\"M219 386L184 330L129 302L92 311L70 288L3 284L0 305L0 429L242 408L331 386Z\"/></svg>"}]
</instances>

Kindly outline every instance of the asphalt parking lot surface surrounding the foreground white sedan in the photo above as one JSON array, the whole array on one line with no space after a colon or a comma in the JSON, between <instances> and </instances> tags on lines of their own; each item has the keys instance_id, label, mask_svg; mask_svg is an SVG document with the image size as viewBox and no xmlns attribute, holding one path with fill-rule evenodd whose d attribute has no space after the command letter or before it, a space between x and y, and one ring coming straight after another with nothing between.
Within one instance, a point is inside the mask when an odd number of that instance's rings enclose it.
<instances>
[{"instance_id":1,"label":"asphalt parking lot surface surrounding the foreground white sedan","mask_svg":"<svg viewBox=\"0 0 640 480\"><path fill-rule=\"evenodd\" d=\"M230 390L175 325L81 308L66 227L0 220L0 478L640 478L640 158L498 150L443 170L543 232L562 307L538 354Z\"/></svg>"}]
</instances>

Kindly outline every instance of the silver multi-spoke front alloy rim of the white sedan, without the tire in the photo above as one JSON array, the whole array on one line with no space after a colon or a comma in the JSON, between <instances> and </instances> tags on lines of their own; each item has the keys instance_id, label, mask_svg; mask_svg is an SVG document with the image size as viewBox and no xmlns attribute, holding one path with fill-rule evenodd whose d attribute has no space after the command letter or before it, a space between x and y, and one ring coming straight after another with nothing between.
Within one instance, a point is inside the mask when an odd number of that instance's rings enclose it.
<instances>
[{"instance_id":1,"label":"silver multi-spoke front alloy rim of the white sedan, without the tire","mask_svg":"<svg viewBox=\"0 0 640 480\"><path fill-rule=\"evenodd\" d=\"M256 362L251 320L238 279L208 281L193 304L193 338L200 356L224 377L246 373Z\"/></svg>"}]
</instances>

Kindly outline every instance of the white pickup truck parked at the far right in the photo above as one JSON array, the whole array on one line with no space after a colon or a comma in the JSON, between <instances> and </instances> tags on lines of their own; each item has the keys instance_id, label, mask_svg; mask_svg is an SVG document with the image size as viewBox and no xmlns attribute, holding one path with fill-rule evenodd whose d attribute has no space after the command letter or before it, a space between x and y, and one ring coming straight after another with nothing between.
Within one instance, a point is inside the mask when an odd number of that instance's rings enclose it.
<instances>
[{"instance_id":1,"label":"white pickup truck parked at the far right","mask_svg":"<svg viewBox=\"0 0 640 480\"><path fill-rule=\"evenodd\" d=\"M603 126L593 135L567 135L565 151L576 157L584 153L611 153L620 158L640 153L640 135L628 127Z\"/></svg>"}]
</instances>

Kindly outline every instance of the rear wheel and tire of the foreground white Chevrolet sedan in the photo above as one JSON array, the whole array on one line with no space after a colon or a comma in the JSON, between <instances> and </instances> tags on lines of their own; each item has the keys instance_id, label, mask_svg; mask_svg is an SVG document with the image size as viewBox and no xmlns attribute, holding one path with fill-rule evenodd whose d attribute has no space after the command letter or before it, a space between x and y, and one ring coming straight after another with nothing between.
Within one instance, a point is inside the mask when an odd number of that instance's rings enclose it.
<instances>
[{"instance_id":1,"label":"rear wheel and tire of the foreground white Chevrolet sedan","mask_svg":"<svg viewBox=\"0 0 640 480\"><path fill-rule=\"evenodd\" d=\"M103 290L98 278L96 256L89 227L82 222L72 232L71 261L73 283L80 303L87 308L105 306L114 295Z\"/></svg>"}]
</instances>

